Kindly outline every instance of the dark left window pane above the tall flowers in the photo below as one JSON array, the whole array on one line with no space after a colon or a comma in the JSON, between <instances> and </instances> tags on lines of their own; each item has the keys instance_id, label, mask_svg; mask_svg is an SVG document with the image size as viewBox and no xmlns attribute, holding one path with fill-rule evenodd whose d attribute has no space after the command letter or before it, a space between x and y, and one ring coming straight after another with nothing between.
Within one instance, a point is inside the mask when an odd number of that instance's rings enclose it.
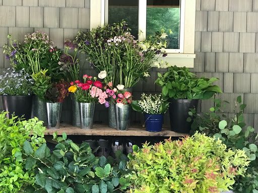
<instances>
[{"instance_id":1,"label":"dark left window pane above the tall flowers","mask_svg":"<svg viewBox=\"0 0 258 193\"><path fill-rule=\"evenodd\" d=\"M108 1L108 24L124 20L132 29L132 35L138 38L138 0Z\"/></svg>"}]
</instances>

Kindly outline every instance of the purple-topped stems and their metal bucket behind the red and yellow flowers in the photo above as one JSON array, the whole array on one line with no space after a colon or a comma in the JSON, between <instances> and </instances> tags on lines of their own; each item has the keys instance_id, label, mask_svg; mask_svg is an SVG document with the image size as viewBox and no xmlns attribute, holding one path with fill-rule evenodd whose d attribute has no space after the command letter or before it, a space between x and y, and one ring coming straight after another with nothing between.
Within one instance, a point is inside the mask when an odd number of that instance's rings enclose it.
<instances>
[{"instance_id":1,"label":"purple-topped stems and their metal bucket behind the red and yellow flowers","mask_svg":"<svg viewBox=\"0 0 258 193\"><path fill-rule=\"evenodd\" d=\"M77 58L78 45L71 40L66 40L64 42L64 53L60 57L59 64L61 64L65 69L67 69L67 79L69 82L75 82L79 80L80 64ZM79 104L76 101L75 95L71 94L72 100L72 125L75 127L80 127L80 114L79 114Z\"/></svg>"}]
</instances>

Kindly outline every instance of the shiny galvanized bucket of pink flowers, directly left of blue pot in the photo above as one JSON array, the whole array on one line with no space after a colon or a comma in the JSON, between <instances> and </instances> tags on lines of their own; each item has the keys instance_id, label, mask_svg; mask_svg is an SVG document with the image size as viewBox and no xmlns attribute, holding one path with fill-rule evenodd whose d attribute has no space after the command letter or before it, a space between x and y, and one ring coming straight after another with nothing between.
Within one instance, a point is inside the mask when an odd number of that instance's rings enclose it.
<instances>
[{"instance_id":1,"label":"shiny galvanized bucket of pink flowers, directly left of blue pot","mask_svg":"<svg viewBox=\"0 0 258 193\"><path fill-rule=\"evenodd\" d=\"M120 108L115 105L116 130L128 130L131 122L131 105L123 105Z\"/></svg>"}]
</instances>

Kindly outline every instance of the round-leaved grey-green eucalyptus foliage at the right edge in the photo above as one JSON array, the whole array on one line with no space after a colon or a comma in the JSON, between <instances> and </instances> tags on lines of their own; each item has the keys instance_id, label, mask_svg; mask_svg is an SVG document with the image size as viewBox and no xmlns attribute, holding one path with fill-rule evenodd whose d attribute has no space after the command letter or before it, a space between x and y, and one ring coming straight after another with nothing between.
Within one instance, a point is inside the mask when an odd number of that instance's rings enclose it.
<instances>
[{"instance_id":1,"label":"round-leaved grey-green eucalyptus foliage at the right edge","mask_svg":"<svg viewBox=\"0 0 258 193\"><path fill-rule=\"evenodd\" d=\"M195 110L190 110L191 133L199 131L209 136L216 137L223 141L227 148L244 150L249 157L250 166L247 168L245 176L238 176L233 185L234 192L258 192L258 151L254 129L246 127L243 111L246 105L242 104L241 96L238 96L233 110L233 117L223 111L226 101L214 100L215 106L210 108L209 113L196 114ZM191 121L190 119L190 121Z\"/></svg>"}]
</instances>

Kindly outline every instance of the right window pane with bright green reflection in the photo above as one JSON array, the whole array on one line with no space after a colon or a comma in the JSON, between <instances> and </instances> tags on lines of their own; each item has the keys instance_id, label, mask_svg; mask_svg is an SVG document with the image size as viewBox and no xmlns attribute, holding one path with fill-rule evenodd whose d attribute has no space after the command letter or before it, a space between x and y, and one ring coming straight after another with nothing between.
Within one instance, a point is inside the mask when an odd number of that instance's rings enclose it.
<instances>
[{"instance_id":1,"label":"right window pane with bright green reflection","mask_svg":"<svg viewBox=\"0 0 258 193\"><path fill-rule=\"evenodd\" d=\"M167 48L180 48L180 0L147 0L147 36L164 29ZM172 31L170 34L169 31Z\"/></svg>"}]
</instances>

